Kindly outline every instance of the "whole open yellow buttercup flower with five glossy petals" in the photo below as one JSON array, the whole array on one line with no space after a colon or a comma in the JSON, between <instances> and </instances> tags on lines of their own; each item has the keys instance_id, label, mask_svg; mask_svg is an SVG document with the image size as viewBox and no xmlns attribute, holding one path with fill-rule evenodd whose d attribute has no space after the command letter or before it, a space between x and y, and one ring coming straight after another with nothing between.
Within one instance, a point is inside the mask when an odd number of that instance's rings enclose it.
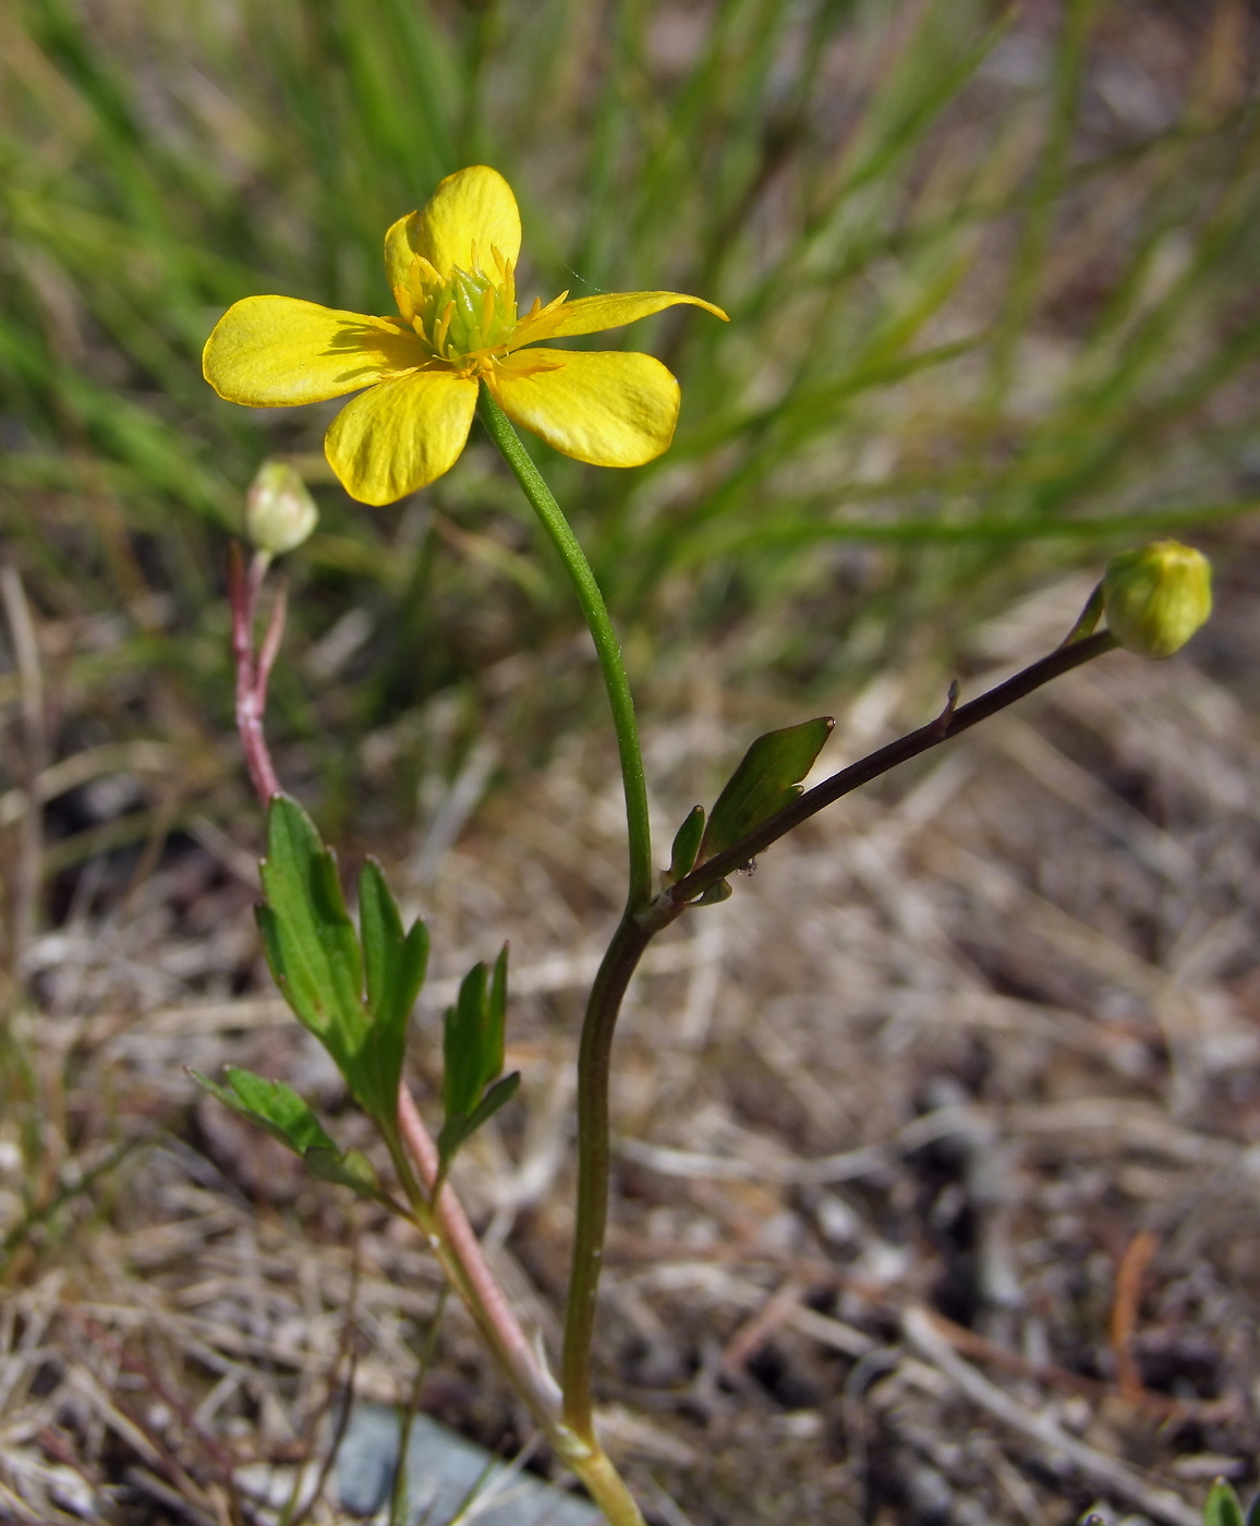
<instances>
[{"instance_id":1,"label":"whole open yellow buttercup flower with five glossy petals","mask_svg":"<svg viewBox=\"0 0 1260 1526\"><path fill-rule=\"evenodd\" d=\"M520 214L485 165L448 175L423 212L384 235L400 317L368 317L288 296L233 304L206 340L201 368L220 397L250 407L349 403L323 449L346 491L391 504L455 465L484 382L514 423L566 456L636 467L670 444L679 385L651 356L552 349L542 340L595 334L677 302L677 291L621 291L516 308ZM529 348L525 348L529 346Z\"/></svg>"}]
</instances>

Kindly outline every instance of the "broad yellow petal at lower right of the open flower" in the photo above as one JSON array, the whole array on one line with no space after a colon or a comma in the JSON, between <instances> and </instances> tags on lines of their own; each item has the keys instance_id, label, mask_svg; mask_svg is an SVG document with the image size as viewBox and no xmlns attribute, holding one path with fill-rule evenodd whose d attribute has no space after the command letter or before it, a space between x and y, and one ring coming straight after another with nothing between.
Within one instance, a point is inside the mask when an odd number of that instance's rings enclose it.
<instances>
[{"instance_id":1,"label":"broad yellow petal at lower right of the open flower","mask_svg":"<svg viewBox=\"0 0 1260 1526\"><path fill-rule=\"evenodd\" d=\"M555 369L531 371L548 365ZM679 385L651 356L621 349L520 349L488 382L508 418L566 456L638 467L667 450Z\"/></svg>"}]
</instances>

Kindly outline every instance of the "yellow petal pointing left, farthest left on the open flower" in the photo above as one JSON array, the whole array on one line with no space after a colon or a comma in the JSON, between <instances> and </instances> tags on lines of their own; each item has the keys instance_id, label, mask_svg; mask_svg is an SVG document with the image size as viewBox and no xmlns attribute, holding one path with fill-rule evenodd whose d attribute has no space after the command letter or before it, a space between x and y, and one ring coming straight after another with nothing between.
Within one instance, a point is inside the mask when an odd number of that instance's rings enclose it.
<instances>
[{"instance_id":1,"label":"yellow petal pointing left, farthest left on the open flower","mask_svg":"<svg viewBox=\"0 0 1260 1526\"><path fill-rule=\"evenodd\" d=\"M201 371L229 403L278 407L357 392L427 359L398 319L340 313L291 296L247 296L215 324Z\"/></svg>"}]
</instances>

